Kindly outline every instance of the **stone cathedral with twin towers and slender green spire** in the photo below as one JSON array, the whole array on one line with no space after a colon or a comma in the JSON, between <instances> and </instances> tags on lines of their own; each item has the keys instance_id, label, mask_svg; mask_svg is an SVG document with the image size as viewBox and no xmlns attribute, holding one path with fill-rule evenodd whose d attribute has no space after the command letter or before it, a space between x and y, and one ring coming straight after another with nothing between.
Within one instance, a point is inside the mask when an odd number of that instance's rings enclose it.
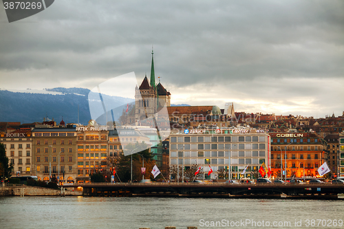
<instances>
[{"instance_id":1,"label":"stone cathedral with twin towers and slender green spire","mask_svg":"<svg viewBox=\"0 0 344 229\"><path fill-rule=\"evenodd\" d=\"M171 94L166 91L164 86L155 83L153 50L151 53L151 78L148 80L147 75L138 87L135 87L135 107L128 114L129 124L134 122L138 124L142 120L151 118L158 112L160 107L169 107L171 105Z\"/></svg>"}]
</instances>

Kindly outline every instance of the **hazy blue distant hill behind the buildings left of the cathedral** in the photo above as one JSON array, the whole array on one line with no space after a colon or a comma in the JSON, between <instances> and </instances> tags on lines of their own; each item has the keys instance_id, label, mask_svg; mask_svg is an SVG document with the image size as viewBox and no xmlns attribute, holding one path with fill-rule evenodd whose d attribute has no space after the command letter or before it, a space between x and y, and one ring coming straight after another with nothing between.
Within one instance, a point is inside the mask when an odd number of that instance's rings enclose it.
<instances>
[{"instance_id":1,"label":"hazy blue distant hill behind the buildings left of the cathedral","mask_svg":"<svg viewBox=\"0 0 344 229\"><path fill-rule=\"evenodd\" d=\"M91 119L89 113L88 94L89 89L63 88L45 89L45 91L57 91L62 94L40 94L28 92L12 92L0 90L0 122L43 122L43 118L65 123L87 124ZM116 96L105 96L104 100L118 106L133 102L133 99ZM79 112L78 112L79 111Z\"/></svg>"}]
</instances>

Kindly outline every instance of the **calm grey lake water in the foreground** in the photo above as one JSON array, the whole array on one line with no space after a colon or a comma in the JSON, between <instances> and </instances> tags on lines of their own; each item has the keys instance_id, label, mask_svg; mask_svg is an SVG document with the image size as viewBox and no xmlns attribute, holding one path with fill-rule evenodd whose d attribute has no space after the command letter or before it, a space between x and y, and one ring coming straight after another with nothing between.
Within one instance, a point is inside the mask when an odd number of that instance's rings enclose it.
<instances>
[{"instance_id":1,"label":"calm grey lake water in the foreground","mask_svg":"<svg viewBox=\"0 0 344 229\"><path fill-rule=\"evenodd\" d=\"M344 228L343 200L0 197L1 228Z\"/></svg>"}]
</instances>

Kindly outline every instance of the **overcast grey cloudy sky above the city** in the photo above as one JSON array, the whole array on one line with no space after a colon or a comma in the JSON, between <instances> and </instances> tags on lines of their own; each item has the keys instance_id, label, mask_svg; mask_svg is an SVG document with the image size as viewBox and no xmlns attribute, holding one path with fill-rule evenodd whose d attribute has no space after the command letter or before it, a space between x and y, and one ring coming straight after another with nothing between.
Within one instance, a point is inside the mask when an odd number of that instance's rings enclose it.
<instances>
[{"instance_id":1,"label":"overcast grey cloudy sky above the city","mask_svg":"<svg viewBox=\"0 0 344 229\"><path fill-rule=\"evenodd\" d=\"M94 89L131 72L140 84L153 47L171 104L341 116L343 12L340 0L56 0L8 23L1 6L0 88Z\"/></svg>"}]
</instances>

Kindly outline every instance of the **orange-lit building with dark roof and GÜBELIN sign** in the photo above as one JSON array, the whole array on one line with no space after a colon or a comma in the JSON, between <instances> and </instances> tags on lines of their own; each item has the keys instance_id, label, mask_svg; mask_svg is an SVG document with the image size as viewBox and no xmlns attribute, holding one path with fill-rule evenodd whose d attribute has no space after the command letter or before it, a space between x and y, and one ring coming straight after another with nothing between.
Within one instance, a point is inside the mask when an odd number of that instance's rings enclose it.
<instances>
[{"instance_id":1,"label":"orange-lit building with dark roof and G\u00dcBELIN sign","mask_svg":"<svg viewBox=\"0 0 344 229\"><path fill-rule=\"evenodd\" d=\"M275 177L281 176L281 164L282 171L286 170L287 178L319 177L319 166L323 162L328 164L327 143L316 133L269 134L271 136L271 169Z\"/></svg>"}]
</instances>

